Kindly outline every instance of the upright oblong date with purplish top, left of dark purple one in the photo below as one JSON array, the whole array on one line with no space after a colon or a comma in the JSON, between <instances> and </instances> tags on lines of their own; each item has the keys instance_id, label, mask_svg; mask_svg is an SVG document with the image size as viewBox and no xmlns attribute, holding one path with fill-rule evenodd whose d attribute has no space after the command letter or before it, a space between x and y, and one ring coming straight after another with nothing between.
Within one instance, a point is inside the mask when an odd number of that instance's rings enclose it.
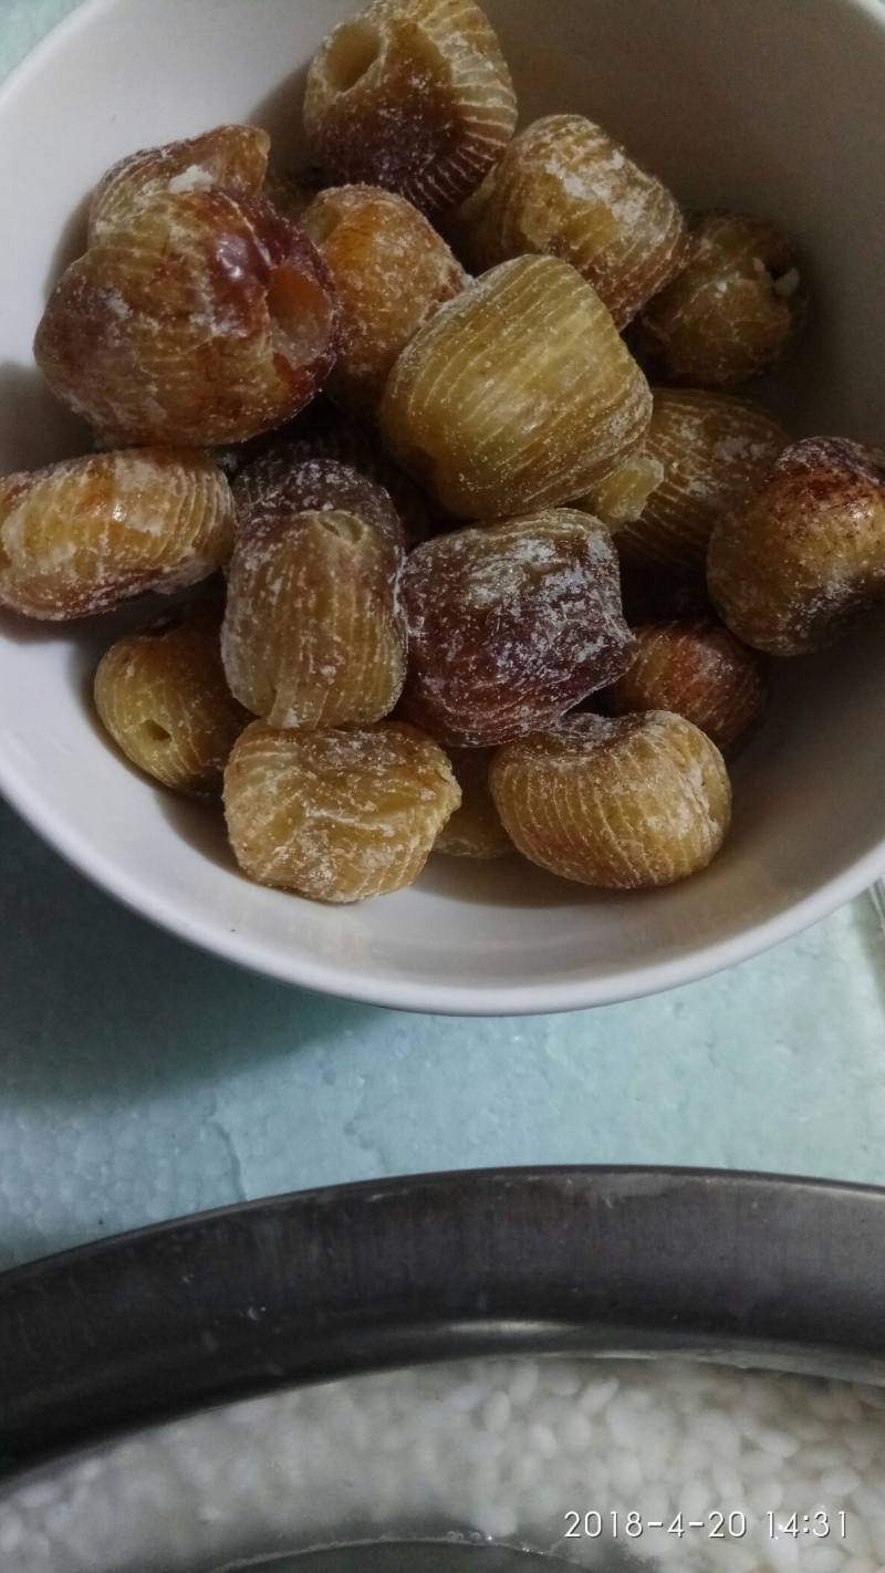
<instances>
[{"instance_id":1,"label":"upright oblong date with purplish top, left of dark purple one","mask_svg":"<svg viewBox=\"0 0 885 1573\"><path fill-rule=\"evenodd\" d=\"M274 727L388 716L406 680L402 529L387 492L332 459L286 472L241 518L222 653Z\"/></svg>"}]
</instances>

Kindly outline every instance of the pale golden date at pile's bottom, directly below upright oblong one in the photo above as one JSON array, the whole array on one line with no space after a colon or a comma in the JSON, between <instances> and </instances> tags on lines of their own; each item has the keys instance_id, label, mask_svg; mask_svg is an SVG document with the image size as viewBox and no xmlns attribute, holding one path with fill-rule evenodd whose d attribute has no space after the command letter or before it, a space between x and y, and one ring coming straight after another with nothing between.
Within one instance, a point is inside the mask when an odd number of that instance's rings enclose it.
<instances>
[{"instance_id":1,"label":"pale golden date at pile's bottom, directly below upright oblong one","mask_svg":"<svg viewBox=\"0 0 885 1573\"><path fill-rule=\"evenodd\" d=\"M225 774L241 868L314 901L412 884L459 802L443 750L398 722L310 733L253 722Z\"/></svg>"}]
</instances>

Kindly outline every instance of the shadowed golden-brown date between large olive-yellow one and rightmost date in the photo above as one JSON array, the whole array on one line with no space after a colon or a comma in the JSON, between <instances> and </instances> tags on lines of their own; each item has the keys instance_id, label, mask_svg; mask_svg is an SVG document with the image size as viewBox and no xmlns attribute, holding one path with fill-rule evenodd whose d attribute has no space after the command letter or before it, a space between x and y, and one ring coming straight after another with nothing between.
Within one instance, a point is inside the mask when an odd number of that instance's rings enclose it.
<instances>
[{"instance_id":1,"label":"shadowed golden-brown date between large olive-yellow one and rightmost date","mask_svg":"<svg viewBox=\"0 0 885 1573\"><path fill-rule=\"evenodd\" d=\"M703 579L714 524L740 508L789 444L758 404L700 389L655 389L644 456L660 466L640 513L622 525L610 497L591 492L591 513L618 530L621 558L673 577Z\"/></svg>"}]
</instances>

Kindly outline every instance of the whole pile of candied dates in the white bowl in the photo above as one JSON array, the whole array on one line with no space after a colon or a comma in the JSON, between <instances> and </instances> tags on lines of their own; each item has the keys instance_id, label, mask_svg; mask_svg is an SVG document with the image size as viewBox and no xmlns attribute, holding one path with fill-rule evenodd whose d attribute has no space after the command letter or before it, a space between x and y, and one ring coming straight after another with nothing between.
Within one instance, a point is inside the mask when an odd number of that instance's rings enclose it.
<instances>
[{"instance_id":1,"label":"whole pile of candied dates in the white bowl","mask_svg":"<svg viewBox=\"0 0 885 1573\"><path fill-rule=\"evenodd\" d=\"M516 121L473 0L376 0L310 71L325 189L252 126L137 153L38 329L96 451L0 480L0 602L211 580L107 651L99 716L318 900L434 849L704 868L767 656L885 595L885 456L726 392L803 322L791 244Z\"/></svg>"}]
</instances>

